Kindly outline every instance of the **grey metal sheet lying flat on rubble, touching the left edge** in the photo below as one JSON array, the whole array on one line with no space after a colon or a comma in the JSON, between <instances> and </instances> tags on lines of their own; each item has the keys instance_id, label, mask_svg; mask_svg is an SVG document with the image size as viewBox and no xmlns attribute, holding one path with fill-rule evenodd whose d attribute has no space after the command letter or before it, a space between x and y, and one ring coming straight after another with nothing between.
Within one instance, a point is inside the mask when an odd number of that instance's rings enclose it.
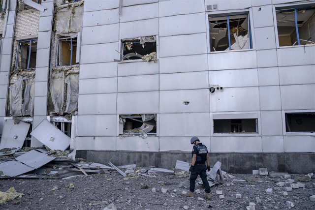
<instances>
[{"instance_id":1,"label":"grey metal sheet lying flat on rubble, touching the left edge","mask_svg":"<svg viewBox=\"0 0 315 210\"><path fill-rule=\"evenodd\" d=\"M0 163L0 171L2 171L3 174L9 177L16 177L21 174L28 173L32 170L34 170L34 168L24 165L23 163L15 160Z\"/></svg>"}]
</instances>

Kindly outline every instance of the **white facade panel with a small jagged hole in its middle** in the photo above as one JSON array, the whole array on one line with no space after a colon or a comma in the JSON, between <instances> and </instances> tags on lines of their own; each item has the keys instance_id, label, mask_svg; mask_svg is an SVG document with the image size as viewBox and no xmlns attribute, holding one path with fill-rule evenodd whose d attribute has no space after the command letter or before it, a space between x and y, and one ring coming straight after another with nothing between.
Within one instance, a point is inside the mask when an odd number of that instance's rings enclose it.
<instances>
[{"instance_id":1,"label":"white facade panel with a small jagged hole in its middle","mask_svg":"<svg viewBox=\"0 0 315 210\"><path fill-rule=\"evenodd\" d=\"M160 91L159 97L160 113L209 112L208 89Z\"/></svg>"}]
</instances>

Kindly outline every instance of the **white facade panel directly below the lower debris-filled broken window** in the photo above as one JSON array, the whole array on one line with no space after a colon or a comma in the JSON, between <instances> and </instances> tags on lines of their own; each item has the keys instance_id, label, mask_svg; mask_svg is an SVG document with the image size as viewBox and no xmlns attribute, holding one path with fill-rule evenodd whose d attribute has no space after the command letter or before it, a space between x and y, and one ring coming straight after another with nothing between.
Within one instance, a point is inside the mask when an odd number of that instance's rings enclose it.
<instances>
[{"instance_id":1,"label":"white facade panel directly below the lower debris-filled broken window","mask_svg":"<svg viewBox=\"0 0 315 210\"><path fill-rule=\"evenodd\" d=\"M158 137L147 137L142 139L140 136L117 137L117 150L127 151L158 151Z\"/></svg>"}]
</instances>

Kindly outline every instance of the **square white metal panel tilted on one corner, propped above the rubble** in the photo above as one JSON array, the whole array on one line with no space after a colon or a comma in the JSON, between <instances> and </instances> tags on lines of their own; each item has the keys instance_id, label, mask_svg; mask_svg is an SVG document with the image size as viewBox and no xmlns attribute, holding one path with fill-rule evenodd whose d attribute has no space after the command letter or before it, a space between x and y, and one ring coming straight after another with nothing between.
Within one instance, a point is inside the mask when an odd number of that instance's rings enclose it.
<instances>
[{"instance_id":1,"label":"square white metal panel tilted on one corner, propped above the rubble","mask_svg":"<svg viewBox=\"0 0 315 210\"><path fill-rule=\"evenodd\" d=\"M43 120L32 131L31 135L51 150L64 151L70 146L70 137L65 135L48 120Z\"/></svg>"}]
</instances>

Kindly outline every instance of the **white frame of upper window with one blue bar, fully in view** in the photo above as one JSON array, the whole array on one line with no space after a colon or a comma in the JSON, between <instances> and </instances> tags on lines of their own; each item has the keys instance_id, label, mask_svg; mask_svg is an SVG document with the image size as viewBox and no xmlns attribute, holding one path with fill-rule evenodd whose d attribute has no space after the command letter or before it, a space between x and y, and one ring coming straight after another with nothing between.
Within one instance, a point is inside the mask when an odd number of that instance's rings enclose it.
<instances>
[{"instance_id":1,"label":"white frame of upper window with one blue bar, fully in view","mask_svg":"<svg viewBox=\"0 0 315 210\"><path fill-rule=\"evenodd\" d=\"M223 53L223 52L239 52L239 51L252 51L255 50L255 37L254 37L254 28L253 28L253 15L252 8L248 9L240 9L240 10L226 10L226 11L211 11L206 12L206 28L207 28L207 51L208 54L212 53ZM248 15L248 24L249 24L249 39L250 39L250 48L248 49L240 49L240 50L224 50L224 51L211 51L211 31L209 27L209 19L210 18L219 18L219 17L227 17L227 16L236 16L236 15ZM230 39L230 38L229 38ZM229 45L230 47L230 45Z\"/></svg>"}]
</instances>

